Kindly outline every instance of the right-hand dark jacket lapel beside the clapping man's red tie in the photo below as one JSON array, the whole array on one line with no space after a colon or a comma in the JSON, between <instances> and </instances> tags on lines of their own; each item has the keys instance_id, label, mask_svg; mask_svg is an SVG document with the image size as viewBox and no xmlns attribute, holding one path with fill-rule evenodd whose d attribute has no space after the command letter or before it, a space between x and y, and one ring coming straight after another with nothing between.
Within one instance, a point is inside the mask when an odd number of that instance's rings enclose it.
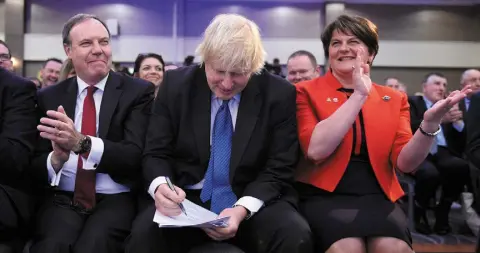
<instances>
[{"instance_id":1,"label":"right-hand dark jacket lapel beside the clapping man's red tie","mask_svg":"<svg viewBox=\"0 0 480 253\"><path fill-rule=\"evenodd\" d=\"M110 121L112 119L115 108L117 107L118 100L122 94L122 80L118 74L110 71L110 74L105 84L105 90L103 92L102 103L100 106L98 136L105 138L108 129L110 128Z\"/></svg>"}]
</instances>

